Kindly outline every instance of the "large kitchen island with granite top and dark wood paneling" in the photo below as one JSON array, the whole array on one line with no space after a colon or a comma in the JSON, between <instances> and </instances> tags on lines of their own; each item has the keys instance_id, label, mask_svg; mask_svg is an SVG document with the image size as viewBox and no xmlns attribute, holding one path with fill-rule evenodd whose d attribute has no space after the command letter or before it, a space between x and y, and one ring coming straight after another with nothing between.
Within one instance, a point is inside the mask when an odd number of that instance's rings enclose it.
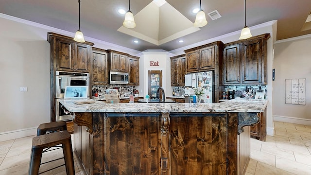
<instances>
[{"instance_id":1,"label":"large kitchen island with granite top and dark wood paneling","mask_svg":"<svg viewBox=\"0 0 311 175\"><path fill-rule=\"evenodd\" d=\"M74 151L91 175L242 175L250 159L249 126L268 103L76 101L60 103L74 113Z\"/></svg>"}]
</instances>

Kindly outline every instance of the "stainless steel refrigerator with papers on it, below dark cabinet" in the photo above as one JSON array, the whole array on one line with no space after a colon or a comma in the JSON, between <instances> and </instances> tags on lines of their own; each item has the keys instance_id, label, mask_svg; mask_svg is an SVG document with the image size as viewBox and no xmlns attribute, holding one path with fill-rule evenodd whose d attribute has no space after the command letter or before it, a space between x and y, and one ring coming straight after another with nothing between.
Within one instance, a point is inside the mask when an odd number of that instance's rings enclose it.
<instances>
[{"instance_id":1,"label":"stainless steel refrigerator with papers on it, below dark cabinet","mask_svg":"<svg viewBox=\"0 0 311 175\"><path fill-rule=\"evenodd\" d=\"M185 75L185 94L194 95L193 88L205 88L204 103L213 102L213 71L191 73Z\"/></svg>"}]
</instances>

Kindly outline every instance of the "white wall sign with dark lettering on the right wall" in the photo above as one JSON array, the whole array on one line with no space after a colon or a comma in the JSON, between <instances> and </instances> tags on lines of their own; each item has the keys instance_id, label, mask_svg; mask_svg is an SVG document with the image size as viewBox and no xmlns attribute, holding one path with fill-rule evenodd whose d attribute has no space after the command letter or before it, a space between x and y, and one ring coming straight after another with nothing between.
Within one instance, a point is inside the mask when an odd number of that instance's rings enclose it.
<instances>
[{"instance_id":1,"label":"white wall sign with dark lettering on the right wall","mask_svg":"<svg viewBox=\"0 0 311 175\"><path fill-rule=\"evenodd\" d=\"M306 79L285 79L285 104L306 105Z\"/></svg>"}]
</instances>

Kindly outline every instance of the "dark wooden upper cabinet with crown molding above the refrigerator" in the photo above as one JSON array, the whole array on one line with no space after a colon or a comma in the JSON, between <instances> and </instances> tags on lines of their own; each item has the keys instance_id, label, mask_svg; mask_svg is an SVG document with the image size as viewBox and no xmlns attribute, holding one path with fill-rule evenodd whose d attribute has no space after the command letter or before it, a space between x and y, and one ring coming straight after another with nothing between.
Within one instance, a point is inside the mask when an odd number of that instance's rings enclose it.
<instances>
[{"instance_id":1,"label":"dark wooden upper cabinet with crown molding above the refrigerator","mask_svg":"<svg viewBox=\"0 0 311 175\"><path fill-rule=\"evenodd\" d=\"M187 73L215 69L221 41L185 50Z\"/></svg>"}]
</instances>

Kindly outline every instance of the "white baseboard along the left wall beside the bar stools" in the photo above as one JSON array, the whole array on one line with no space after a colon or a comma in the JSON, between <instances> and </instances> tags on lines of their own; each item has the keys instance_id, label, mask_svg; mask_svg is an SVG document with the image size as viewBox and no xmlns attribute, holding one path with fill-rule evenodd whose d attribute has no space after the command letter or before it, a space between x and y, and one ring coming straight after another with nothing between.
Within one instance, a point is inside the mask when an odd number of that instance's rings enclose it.
<instances>
[{"instance_id":1,"label":"white baseboard along the left wall beside the bar stools","mask_svg":"<svg viewBox=\"0 0 311 175\"><path fill-rule=\"evenodd\" d=\"M1 132L0 141L18 139L28 136L34 136L37 134L37 127L18 129L13 131Z\"/></svg>"}]
</instances>

